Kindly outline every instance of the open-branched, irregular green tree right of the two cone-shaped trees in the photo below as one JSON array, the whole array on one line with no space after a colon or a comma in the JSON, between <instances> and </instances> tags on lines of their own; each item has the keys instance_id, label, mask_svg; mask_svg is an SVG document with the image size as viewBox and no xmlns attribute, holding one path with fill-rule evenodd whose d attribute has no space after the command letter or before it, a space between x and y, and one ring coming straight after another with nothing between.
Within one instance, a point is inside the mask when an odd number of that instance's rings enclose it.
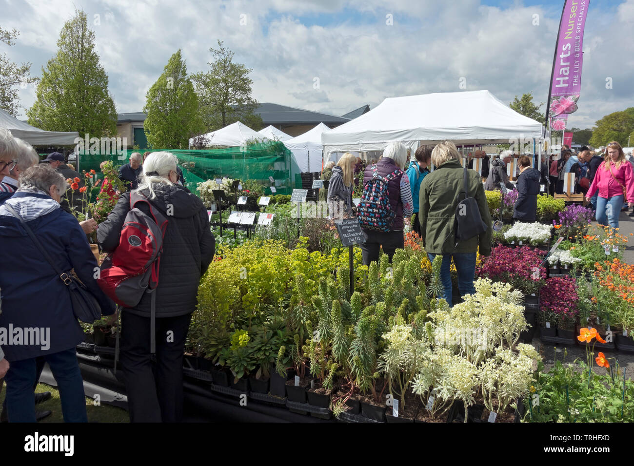
<instances>
[{"instance_id":1,"label":"open-branched, irregular green tree right of the two cone-shaped trees","mask_svg":"<svg viewBox=\"0 0 634 466\"><path fill-rule=\"evenodd\" d=\"M259 131L264 123L254 111L259 105L252 98L250 68L241 63L233 63L233 52L218 41L218 49L210 48L214 61L208 63L211 69L191 75L196 86L200 115L205 129L214 131L236 121L241 121Z\"/></svg>"}]
</instances>

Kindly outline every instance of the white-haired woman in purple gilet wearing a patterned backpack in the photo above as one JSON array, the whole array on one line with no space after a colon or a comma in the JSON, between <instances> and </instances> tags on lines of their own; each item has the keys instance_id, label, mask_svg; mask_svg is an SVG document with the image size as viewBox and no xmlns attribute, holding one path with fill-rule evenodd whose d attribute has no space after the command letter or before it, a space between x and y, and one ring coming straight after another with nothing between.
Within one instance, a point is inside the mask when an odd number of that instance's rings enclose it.
<instances>
[{"instance_id":1,"label":"white-haired woman in purple gilet wearing a patterned backpack","mask_svg":"<svg viewBox=\"0 0 634 466\"><path fill-rule=\"evenodd\" d=\"M404 248L403 225L404 217L410 217L413 213L413 201L411 198L410 180L407 178L404 168L407 164L407 148L403 143L389 143L383 152L381 159L373 165L368 165L363 174L364 195L368 189L377 189L377 179L387 181L387 194L391 211L393 212L393 221L382 228L379 225L368 225L367 209L376 209L377 206L365 206L365 201L359 205L359 218L361 226L365 233L366 239L361 243L361 252L363 254L363 264L370 265L370 262L377 262L380 249L387 254L389 261L392 262L392 256L396 249ZM372 184L368 184L369 181ZM377 212L380 214L380 212ZM364 217L366 216L366 217ZM365 220L364 220L365 218Z\"/></svg>"}]
</instances>

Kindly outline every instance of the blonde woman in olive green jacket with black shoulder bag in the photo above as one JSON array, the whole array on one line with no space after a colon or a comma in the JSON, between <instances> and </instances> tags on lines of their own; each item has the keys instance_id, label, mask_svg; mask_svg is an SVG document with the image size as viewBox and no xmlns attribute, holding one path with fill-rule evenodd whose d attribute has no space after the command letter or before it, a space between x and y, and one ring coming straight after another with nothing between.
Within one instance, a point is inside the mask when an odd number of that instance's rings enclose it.
<instances>
[{"instance_id":1,"label":"blonde woman in olive green jacket with black shoulder bag","mask_svg":"<svg viewBox=\"0 0 634 466\"><path fill-rule=\"evenodd\" d=\"M458 272L460 295L474 294L477 251L479 249L481 257L491 254L491 214L480 175L467 169L467 196L477 200L480 216L488 228L480 235L456 242L456 207L464 197L465 176L460 153L451 141L443 141L432 150L432 164L436 169L425 176L420 185L420 233L429 260L433 261L437 254L443 256L440 276L444 299L452 306L451 258Z\"/></svg>"}]
</instances>

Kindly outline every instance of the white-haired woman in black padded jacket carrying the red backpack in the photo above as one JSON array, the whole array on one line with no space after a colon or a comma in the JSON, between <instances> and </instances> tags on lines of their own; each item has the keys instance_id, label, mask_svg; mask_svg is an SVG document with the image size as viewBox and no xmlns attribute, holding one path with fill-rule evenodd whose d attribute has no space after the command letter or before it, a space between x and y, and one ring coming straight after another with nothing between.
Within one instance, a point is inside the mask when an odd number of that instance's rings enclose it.
<instances>
[{"instance_id":1,"label":"white-haired woman in black padded jacket carrying the red backpack","mask_svg":"<svg viewBox=\"0 0 634 466\"><path fill-rule=\"evenodd\" d=\"M160 256L156 300L156 368L150 354L152 297L144 294L139 304L124 307L121 314L121 363L132 422L178 422L183 415L183 353L191 313L197 306L198 283L214 257L214 236L207 209L187 188L178 184L176 157L153 152L143 164L137 192L167 218ZM101 249L114 252L131 209L130 193L124 193L100 224ZM145 203L138 209L150 214Z\"/></svg>"}]
</instances>

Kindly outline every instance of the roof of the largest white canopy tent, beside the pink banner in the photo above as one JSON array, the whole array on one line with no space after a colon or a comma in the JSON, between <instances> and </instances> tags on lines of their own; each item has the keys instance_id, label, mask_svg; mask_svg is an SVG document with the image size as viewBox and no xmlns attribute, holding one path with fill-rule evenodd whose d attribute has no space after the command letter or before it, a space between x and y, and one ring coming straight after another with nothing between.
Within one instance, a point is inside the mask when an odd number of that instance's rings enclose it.
<instances>
[{"instance_id":1,"label":"roof of the largest white canopy tent, beside the pink banner","mask_svg":"<svg viewBox=\"0 0 634 466\"><path fill-rule=\"evenodd\" d=\"M540 122L484 90L387 98L370 112L324 133L321 142L328 160L335 152L383 150L391 141L412 149L419 143L444 140L480 145L538 139L542 131Z\"/></svg>"}]
</instances>

